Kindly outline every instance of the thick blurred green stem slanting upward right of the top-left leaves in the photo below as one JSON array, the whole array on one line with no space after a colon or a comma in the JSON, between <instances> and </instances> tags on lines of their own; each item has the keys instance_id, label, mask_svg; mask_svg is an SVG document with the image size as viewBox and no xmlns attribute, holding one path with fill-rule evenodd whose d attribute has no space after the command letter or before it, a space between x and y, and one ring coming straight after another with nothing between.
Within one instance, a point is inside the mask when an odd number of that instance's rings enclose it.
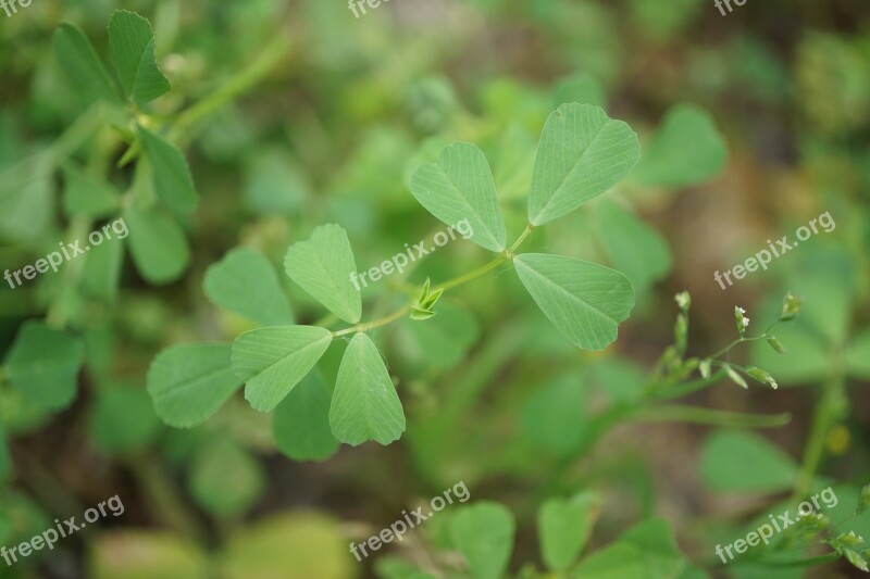
<instances>
[{"instance_id":1,"label":"thick blurred green stem slanting upward right of the top-left leaves","mask_svg":"<svg viewBox=\"0 0 870 579\"><path fill-rule=\"evenodd\" d=\"M288 53L290 40L282 33L266 45L249 66L241 70L221 88L183 112L175 123L170 140L177 141L196 123L257 86Z\"/></svg>"}]
</instances>

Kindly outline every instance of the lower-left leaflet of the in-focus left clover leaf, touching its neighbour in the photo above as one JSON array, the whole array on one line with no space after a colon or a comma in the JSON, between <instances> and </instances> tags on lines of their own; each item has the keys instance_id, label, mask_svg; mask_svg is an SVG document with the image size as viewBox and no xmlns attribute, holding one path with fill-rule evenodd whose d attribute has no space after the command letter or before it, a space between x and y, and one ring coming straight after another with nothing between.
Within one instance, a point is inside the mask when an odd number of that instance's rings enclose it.
<instances>
[{"instance_id":1,"label":"lower-left leaflet of the in-focus left clover leaf, touching its neighbour","mask_svg":"<svg viewBox=\"0 0 870 579\"><path fill-rule=\"evenodd\" d=\"M284 326L246 331L233 344L233 369L254 410L272 411L330 347L330 330Z\"/></svg>"}]
</instances>

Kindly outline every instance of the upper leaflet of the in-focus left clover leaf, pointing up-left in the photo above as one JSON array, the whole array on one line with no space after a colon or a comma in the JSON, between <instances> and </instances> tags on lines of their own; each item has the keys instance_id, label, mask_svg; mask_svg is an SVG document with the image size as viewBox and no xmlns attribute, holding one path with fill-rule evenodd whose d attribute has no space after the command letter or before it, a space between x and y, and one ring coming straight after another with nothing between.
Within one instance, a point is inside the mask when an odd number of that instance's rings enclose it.
<instances>
[{"instance_id":1,"label":"upper leaflet of the in-focus left clover leaf, pointing up-left","mask_svg":"<svg viewBox=\"0 0 870 579\"><path fill-rule=\"evenodd\" d=\"M350 281L357 273L347 232L330 224L314 229L307 241L290 246L284 269L312 298L349 324L362 316L362 299Z\"/></svg>"}]
</instances>

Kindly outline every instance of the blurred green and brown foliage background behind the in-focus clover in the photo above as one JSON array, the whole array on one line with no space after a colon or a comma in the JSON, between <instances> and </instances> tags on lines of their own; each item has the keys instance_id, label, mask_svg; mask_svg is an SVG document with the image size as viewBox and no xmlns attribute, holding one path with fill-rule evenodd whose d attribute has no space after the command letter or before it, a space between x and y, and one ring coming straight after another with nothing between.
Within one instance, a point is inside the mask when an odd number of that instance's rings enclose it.
<instances>
[{"instance_id":1,"label":"blurred green and brown foliage background behind the in-focus clover","mask_svg":"<svg viewBox=\"0 0 870 579\"><path fill-rule=\"evenodd\" d=\"M128 247L132 231L112 266L83 259L0 290L7 364L34 319L85 352L75 392L59 404L28 398L0 372L0 544L110 496L125 507L53 551L0 564L0 577L467 577L450 534L459 506L362 563L347 546L459 481L468 504L496 501L513 513L511 577L545 576L536 512L584 490L601 496L586 553L650 516L670 524L685 563L649 577L863 575L844 561L721 566L713 546L781 513L796 488L833 486L848 514L868 482L866 0L750 0L724 16L712 0L391 0L360 17L338 0L37 0L0 12L3 269L80 230L71 166L117 191L137 187L133 166L119 166L126 148L110 122L80 136L92 101L63 74L51 41L73 22L108 60L117 9L157 33L172 91L147 114L178 128L173 140L200 201L177 236L157 235L167 240L157 273ZM225 87L244 90L174 124ZM614 345L573 348L505 267L447 292L432 320L373 333L408 418L389 446L336 441L306 455L282 432L293 408L258 413L241 393L196 428L158 418L146 377L162 349L229 342L257 327L203 290L229 250L266 255L295 320L314 324L325 312L284 275L287 248L338 223L363 269L430 239L443 227L410 194L410 175L455 140L486 153L515 239L540 129L574 101L629 123L642 162L608 194L535 231L529 249L632 279L637 305ZM725 290L714 281L824 212L831 232ZM403 284L443 281L486 260L473 243L451 242L405 279L363 290L364 319L391 311ZM688 354L700 357L736 338L735 305L761 331L786 291L804 298L800 317L776 330L787 353L761 340L732 354L780 388L723 380L679 399L681 412L611 419L637 402L673 342L673 295L683 290ZM319 364L324 383L335 382L345 345L336 340ZM735 430L688 406L791 418ZM853 528L870 537L870 519Z\"/></svg>"}]
</instances>

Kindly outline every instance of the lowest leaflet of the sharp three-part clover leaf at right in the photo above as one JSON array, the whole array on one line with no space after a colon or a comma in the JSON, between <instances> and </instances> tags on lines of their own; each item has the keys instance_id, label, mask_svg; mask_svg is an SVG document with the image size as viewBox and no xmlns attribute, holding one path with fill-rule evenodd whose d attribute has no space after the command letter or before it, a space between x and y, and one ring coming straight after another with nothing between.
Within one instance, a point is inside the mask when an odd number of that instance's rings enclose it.
<instances>
[{"instance_id":1,"label":"lowest leaflet of the sharp three-part clover leaf at right","mask_svg":"<svg viewBox=\"0 0 870 579\"><path fill-rule=\"evenodd\" d=\"M577 348L610 345L634 307L631 281L616 269L544 253L518 255L513 265L538 307Z\"/></svg>"}]
</instances>

